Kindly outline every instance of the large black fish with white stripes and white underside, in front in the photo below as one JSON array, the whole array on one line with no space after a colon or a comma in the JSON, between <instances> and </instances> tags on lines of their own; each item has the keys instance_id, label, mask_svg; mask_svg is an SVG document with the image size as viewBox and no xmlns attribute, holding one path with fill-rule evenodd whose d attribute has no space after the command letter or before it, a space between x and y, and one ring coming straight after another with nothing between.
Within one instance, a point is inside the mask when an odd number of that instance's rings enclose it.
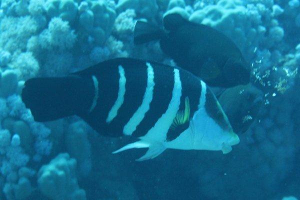
<instances>
[{"instance_id":1,"label":"large black fish with white stripes and white underside, in front","mask_svg":"<svg viewBox=\"0 0 300 200\"><path fill-rule=\"evenodd\" d=\"M190 72L155 62L116 58L65 77L32 78L22 99L37 121L76 114L103 135L130 135L138 160L166 148L222 150L239 142L206 84Z\"/></svg>"}]
</instances>

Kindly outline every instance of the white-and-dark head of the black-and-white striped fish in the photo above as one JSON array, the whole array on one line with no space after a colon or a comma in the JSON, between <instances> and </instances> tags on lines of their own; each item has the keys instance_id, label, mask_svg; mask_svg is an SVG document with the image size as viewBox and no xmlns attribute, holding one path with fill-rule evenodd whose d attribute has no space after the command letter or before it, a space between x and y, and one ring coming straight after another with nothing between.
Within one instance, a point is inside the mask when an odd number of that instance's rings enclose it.
<instances>
[{"instance_id":1,"label":"white-and-dark head of the black-and-white striped fish","mask_svg":"<svg viewBox=\"0 0 300 200\"><path fill-rule=\"evenodd\" d=\"M199 106L190 121L193 135L193 149L231 151L231 146L239 143L229 120L217 99L207 89L205 102Z\"/></svg>"}]
</instances>

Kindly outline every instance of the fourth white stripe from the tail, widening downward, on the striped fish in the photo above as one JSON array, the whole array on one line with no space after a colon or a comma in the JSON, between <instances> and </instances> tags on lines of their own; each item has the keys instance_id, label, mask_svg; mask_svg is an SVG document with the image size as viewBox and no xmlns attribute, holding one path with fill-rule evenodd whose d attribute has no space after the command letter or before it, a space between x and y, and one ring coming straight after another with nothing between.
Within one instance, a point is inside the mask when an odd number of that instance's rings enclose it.
<instances>
[{"instance_id":1,"label":"fourth white stripe from the tail, widening downward, on the striped fish","mask_svg":"<svg viewBox=\"0 0 300 200\"><path fill-rule=\"evenodd\" d=\"M163 113L161 117L156 121L155 125L147 132L147 134L140 137L140 139L148 141L165 140L166 133L179 109L181 89L182 86L179 76L179 70L174 68L174 87L172 91L172 98L169 102L168 108L166 109L165 113Z\"/></svg>"}]
</instances>

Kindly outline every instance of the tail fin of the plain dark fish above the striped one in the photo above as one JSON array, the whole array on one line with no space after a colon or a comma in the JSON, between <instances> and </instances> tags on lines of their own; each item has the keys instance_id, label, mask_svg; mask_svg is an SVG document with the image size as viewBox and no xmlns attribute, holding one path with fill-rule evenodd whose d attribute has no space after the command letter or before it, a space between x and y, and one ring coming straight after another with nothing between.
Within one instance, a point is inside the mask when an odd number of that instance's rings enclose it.
<instances>
[{"instance_id":1,"label":"tail fin of the plain dark fish above the striped one","mask_svg":"<svg viewBox=\"0 0 300 200\"><path fill-rule=\"evenodd\" d=\"M134 44L142 44L153 40L158 40L164 35L164 31L159 27L145 21L136 21L134 27Z\"/></svg>"}]
</instances>

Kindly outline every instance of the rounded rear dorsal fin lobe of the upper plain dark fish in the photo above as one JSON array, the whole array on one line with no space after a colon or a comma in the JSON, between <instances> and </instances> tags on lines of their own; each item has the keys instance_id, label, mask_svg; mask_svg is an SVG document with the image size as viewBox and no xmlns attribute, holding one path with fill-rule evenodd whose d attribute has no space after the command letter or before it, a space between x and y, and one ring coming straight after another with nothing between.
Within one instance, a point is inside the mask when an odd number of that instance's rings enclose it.
<instances>
[{"instance_id":1,"label":"rounded rear dorsal fin lobe of the upper plain dark fish","mask_svg":"<svg viewBox=\"0 0 300 200\"><path fill-rule=\"evenodd\" d=\"M188 21L178 13L170 13L163 16L163 26L166 30L175 30L186 22Z\"/></svg>"}]
</instances>

